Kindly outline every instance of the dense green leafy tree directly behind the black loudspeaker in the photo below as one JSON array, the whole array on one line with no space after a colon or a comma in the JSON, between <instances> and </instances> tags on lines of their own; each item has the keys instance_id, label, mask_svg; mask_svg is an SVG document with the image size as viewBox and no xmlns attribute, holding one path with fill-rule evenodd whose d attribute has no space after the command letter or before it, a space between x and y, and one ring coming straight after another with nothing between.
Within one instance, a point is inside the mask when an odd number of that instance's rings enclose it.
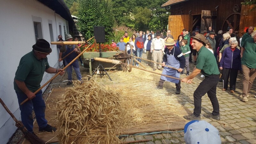
<instances>
[{"instance_id":1,"label":"dense green leafy tree directly behind the black loudspeaker","mask_svg":"<svg viewBox=\"0 0 256 144\"><path fill-rule=\"evenodd\" d=\"M112 35L114 17L110 0L78 0L78 28L85 39L93 36L94 26L104 26L105 36Z\"/></svg>"}]
</instances>

